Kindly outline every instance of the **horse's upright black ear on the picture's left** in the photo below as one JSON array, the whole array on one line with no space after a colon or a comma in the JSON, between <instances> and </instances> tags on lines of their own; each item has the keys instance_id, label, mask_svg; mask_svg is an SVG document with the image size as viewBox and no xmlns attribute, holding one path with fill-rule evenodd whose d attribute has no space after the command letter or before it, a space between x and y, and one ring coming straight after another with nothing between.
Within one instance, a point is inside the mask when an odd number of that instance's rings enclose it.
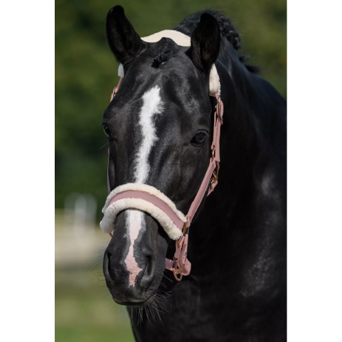
<instances>
[{"instance_id":1,"label":"horse's upright black ear on the picture's left","mask_svg":"<svg viewBox=\"0 0 342 342\"><path fill-rule=\"evenodd\" d=\"M123 65L131 62L144 44L119 5L107 14L106 33L111 51Z\"/></svg>"}]
</instances>

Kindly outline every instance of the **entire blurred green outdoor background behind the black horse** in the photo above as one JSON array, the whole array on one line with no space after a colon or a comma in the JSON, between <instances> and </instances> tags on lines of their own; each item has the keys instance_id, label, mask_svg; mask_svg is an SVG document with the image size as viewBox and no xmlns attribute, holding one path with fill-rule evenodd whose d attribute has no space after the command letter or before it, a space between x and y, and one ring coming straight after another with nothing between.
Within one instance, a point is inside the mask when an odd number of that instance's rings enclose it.
<instances>
[{"instance_id":1,"label":"entire blurred green outdoor background behind the black horse","mask_svg":"<svg viewBox=\"0 0 342 342\"><path fill-rule=\"evenodd\" d=\"M248 63L259 65L286 98L285 0L55 2L56 341L133 341L128 315L107 295L101 276L108 239L98 228L107 196L101 120L118 83L105 18L118 4L140 36L172 29L199 10L223 10L241 35Z\"/></svg>"}]
</instances>

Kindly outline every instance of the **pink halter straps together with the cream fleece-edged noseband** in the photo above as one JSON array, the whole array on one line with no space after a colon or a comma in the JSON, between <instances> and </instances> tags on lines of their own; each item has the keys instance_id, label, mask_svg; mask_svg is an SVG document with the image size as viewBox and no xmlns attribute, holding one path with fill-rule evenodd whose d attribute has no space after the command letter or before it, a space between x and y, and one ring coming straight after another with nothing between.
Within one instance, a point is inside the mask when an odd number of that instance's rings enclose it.
<instances>
[{"instance_id":1,"label":"pink halter straps together with the cream fleece-edged noseband","mask_svg":"<svg viewBox=\"0 0 342 342\"><path fill-rule=\"evenodd\" d=\"M111 101L122 84L120 78L118 86L111 94ZM158 189L146 184L129 183L116 187L113 191L109 185L109 174L107 171L107 184L109 195L103 207L104 218L100 223L101 229L112 237L113 222L120 211L125 209L139 209L146 211L159 221L170 239L176 240L176 252L174 259L166 259L166 269L173 272L174 278L181 281L183 276L190 273L191 263L187 259L187 244L189 240L189 226L194 215L208 190L208 195L218 185L218 171L220 169L220 128L223 124L223 103L218 92L215 92L218 103L215 107L213 142L211 144L211 159L205 177L196 194L194 202L187 215L176 209L174 202ZM108 150L109 161L109 150Z\"/></svg>"}]
</instances>

